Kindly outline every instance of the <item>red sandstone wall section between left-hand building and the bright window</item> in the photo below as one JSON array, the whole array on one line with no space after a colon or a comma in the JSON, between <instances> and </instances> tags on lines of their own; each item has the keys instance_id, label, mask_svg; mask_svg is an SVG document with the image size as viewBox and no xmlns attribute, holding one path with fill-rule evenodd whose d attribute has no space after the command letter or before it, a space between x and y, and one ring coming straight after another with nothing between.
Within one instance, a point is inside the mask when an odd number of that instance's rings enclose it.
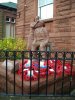
<instances>
[{"instance_id":1,"label":"red sandstone wall section between left-hand building and the bright window","mask_svg":"<svg viewBox=\"0 0 75 100\"><path fill-rule=\"evenodd\" d=\"M34 0L18 0L17 9L16 36L27 38L35 17Z\"/></svg>"}]
</instances>

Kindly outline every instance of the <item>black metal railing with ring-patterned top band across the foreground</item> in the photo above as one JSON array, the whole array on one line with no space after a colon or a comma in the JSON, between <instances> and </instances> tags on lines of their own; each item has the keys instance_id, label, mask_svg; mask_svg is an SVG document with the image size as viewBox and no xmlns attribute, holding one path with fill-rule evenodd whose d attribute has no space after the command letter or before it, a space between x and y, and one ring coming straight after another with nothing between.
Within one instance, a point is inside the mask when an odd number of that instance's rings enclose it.
<instances>
[{"instance_id":1,"label":"black metal railing with ring-patterned top band across the foreground","mask_svg":"<svg viewBox=\"0 0 75 100\"><path fill-rule=\"evenodd\" d=\"M36 53L37 56L34 56ZM42 54L44 53L44 57ZM13 73L8 68L8 60L13 62ZM24 60L30 60L30 79L24 79ZM54 61L54 73L49 75L50 61ZM5 67L2 63L5 62ZM21 76L17 74L16 61L21 63ZM32 80L32 64L38 62L37 80ZM41 77L41 61L46 61L45 77ZM59 63L58 63L59 62ZM62 72L57 72L62 64ZM66 70L67 65L69 70ZM57 69L57 66L59 67ZM22 96L75 96L75 52L64 51L0 51L0 94ZM10 67L10 66L9 66ZM5 74L5 75L4 75Z\"/></svg>"}]
</instances>

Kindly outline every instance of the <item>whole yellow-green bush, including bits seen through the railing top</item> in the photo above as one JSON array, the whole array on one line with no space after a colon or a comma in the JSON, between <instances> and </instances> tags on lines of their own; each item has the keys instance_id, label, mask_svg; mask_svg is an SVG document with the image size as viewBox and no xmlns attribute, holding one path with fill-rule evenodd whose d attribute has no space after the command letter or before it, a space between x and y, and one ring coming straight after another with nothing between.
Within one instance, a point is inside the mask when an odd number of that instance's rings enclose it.
<instances>
[{"instance_id":1,"label":"whole yellow-green bush, including bits seen through the railing top","mask_svg":"<svg viewBox=\"0 0 75 100\"><path fill-rule=\"evenodd\" d=\"M10 51L22 51L26 50L26 48L27 48L27 43L25 40L21 38L16 38L16 39L5 38L3 40L0 40L0 50L1 51L9 50L10 59L14 59L13 52ZM16 52L16 59L21 59L21 57L22 57L21 52Z\"/></svg>"}]
</instances>

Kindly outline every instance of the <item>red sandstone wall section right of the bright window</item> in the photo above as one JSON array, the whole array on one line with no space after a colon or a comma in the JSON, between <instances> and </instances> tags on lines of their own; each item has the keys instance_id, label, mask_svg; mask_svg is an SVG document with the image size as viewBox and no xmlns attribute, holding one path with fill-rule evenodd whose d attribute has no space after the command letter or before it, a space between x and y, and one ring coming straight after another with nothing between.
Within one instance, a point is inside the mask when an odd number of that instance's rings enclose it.
<instances>
[{"instance_id":1,"label":"red sandstone wall section right of the bright window","mask_svg":"<svg viewBox=\"0 0 75 100\"><path fill-rule=\"evenodd\" d=\"M57 49L75 50L75 0L55 0L54 44Z\"/></svg>"}]
</instances>

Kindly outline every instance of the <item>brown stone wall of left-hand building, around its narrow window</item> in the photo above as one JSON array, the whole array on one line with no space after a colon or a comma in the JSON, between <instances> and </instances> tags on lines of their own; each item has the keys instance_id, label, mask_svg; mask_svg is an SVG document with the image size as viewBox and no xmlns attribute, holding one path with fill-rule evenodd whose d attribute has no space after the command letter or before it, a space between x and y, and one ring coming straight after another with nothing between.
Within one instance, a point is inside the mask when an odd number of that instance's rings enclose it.
<instances>
[{"instance_id":1,"label":"brown stone wall of left-hand building, around its narrow window","mask_svg":"<svg viewBox=\"0 0 75 100\"><path fill-rule=\"evenodd\" d=\"M6 37L6 16L16 19L16 10L3 9L0 7L0 39ZM10 26L11 29L11 26Z\"/></svg>"}]
</instances>

